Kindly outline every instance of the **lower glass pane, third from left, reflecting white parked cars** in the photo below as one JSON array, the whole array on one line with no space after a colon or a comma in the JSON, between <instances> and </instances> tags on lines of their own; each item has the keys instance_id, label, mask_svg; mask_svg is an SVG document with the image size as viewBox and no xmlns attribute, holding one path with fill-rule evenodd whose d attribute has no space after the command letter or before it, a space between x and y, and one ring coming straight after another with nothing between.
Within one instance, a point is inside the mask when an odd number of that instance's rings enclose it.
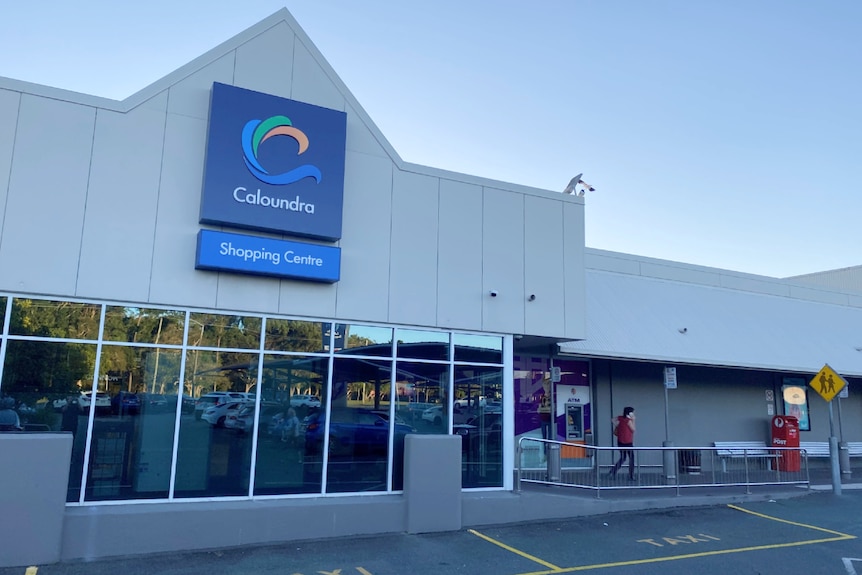
<instances>
[{"instance_id":1,"label":"lower glass pane, third from left, reflecting white parked cars","mask_svg":"<svg viewBox=\"0 0 862 575\"><path fill-rule=\"evenodd\" d=\"M248 495L251 435L227 420L254 404L256 353L189 350L183 392L196 397L180 420L175 497Z\"/></svg>"}]
</instances>

